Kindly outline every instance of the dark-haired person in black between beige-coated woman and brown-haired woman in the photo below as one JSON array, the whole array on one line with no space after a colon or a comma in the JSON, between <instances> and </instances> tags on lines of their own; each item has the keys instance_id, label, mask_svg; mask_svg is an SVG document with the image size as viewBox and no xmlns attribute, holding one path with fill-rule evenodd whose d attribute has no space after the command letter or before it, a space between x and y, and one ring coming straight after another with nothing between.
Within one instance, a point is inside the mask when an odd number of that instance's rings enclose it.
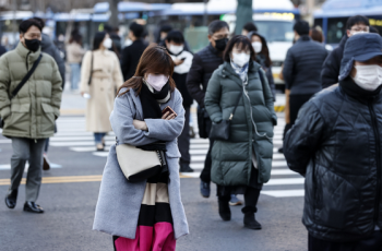
<instances>
[{"instance_id":1,"label":"dark-haired person in black between beige-coated woman and brown-haired woman","mask_svg":"<svg viewBox=\"0 0 382 251\"><path fill-rule=\"evenodd\" d=\"M138 63L147 44L143 40L144 26L135 22L130 24L129 38L132 44L122 50L122 74L124 81L130 80L136 70Z\"/></svg>"}]
</instances>

